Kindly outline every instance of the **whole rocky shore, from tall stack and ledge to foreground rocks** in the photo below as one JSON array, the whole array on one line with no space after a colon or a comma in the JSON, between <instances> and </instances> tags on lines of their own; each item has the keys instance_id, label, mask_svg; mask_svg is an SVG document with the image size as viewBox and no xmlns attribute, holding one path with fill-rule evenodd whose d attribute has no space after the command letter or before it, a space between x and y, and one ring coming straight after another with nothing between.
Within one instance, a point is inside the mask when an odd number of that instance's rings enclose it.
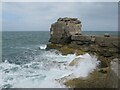
<instances>
[{"instance_id":1,"label":"whole rocky shore, from tall stack and ledge to foreground rocks","mask_svg":"<svg viewBox=\"0 0 120 90\"><path fill-rule=\"evenodd\" d=\"M120 37L82 35L81 21L77 18L59 18L50 28L47 49L57 49L63 55L96 55L101 65L87 79L74 78L64 82L70 88L118 88ZM71 65L77 61L71 62Z\"/></svg>"}]
</instances>

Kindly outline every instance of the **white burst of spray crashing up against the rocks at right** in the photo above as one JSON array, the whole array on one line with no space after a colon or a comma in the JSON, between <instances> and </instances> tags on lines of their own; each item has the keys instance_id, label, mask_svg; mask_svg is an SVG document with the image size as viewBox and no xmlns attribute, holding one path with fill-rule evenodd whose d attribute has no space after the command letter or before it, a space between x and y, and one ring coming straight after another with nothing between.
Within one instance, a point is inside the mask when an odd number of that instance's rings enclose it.
<instances>
[{"instance_id":1,"label":"white burst of spray crashing up against the rocks at right","mask_svg":"<svg viewBox=\"0 0 120 90\"><path fill-rule=\"evenodd\" d=\"M88 53L80 55L80 60L77 68L74 68L73 70L76 78L88 76L89 73L93 72L100 63L100 61L97 61L97 57L89 55Z\"/></svg>"}]
</instances>

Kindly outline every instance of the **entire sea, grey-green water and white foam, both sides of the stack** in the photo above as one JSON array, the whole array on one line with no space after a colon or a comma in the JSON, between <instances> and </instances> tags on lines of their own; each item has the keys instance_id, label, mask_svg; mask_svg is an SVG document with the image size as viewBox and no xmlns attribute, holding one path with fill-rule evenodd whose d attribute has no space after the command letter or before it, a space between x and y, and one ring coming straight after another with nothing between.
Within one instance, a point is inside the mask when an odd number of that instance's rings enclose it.
<instances>
[{"instance_id":1,"label":"entire sea, grey-green water and white foam, both sides of the stack","mask_svg":"<svg viewBox=\"0 0 120 90\"><path fill-rule=\"evenodd\" d=\"M117 36L118 32L86 31L87 35ZM65 80L85 78L99 65L97 56L62 55L55 49L46 50L49 31L2 31L0 89L2 88L66 88ZM70 62L78 58L76 66ZM68 77L67 79L61 79Z\"/></svg>"}]
</instances>

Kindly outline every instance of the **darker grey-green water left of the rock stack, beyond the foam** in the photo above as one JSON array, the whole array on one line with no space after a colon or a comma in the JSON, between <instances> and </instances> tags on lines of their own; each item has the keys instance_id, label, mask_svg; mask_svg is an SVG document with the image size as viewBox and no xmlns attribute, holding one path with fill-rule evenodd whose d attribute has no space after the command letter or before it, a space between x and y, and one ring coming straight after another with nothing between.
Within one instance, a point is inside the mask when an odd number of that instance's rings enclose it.
<instances>
[{"instance_id":1,"label":"darker grey-green water left of the rock stack, beyond the foam","mask_svg":"<svg viewBox=\"0 0 120 90\"><path fill-rule=\"evenodd\" d=\"M48 40L49 32L44 31L2 32L2 61L16 64L30 62L39 46L47 44Z\"/></svg>"}]
</instances>

